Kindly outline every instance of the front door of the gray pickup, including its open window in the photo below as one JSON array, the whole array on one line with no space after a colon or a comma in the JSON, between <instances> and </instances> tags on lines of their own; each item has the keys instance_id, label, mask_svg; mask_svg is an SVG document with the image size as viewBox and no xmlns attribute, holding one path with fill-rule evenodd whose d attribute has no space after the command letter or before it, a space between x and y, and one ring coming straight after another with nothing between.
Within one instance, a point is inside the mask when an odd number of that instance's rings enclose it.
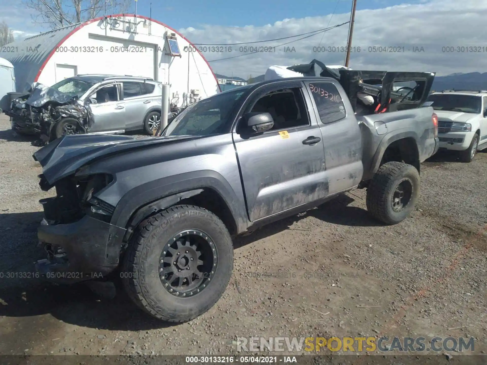
<instances>
[{"instance_id":1,"label":"front door of the gray pickup, including its open window","mask_svg":"<svg viewBox=\"0 0 487 365\"><path fill-rule=\"evenodd\" d=\"M254 91L240 115L269 112L274 127L233 139L249 219L255 221L328 195L323 141L306 108L301 81L283 81Z\"/></svg>"}]
</instances>

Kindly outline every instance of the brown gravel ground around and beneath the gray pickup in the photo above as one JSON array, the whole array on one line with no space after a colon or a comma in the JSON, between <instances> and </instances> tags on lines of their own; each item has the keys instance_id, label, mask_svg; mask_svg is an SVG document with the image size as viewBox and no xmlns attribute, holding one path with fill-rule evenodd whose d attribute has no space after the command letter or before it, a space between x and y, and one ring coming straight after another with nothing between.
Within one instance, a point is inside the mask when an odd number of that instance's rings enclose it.
<instances>
[{"instance_id":1,"label":"brown gravel ground around and beneath the gray pickup","mask_svg":"<svg viewBox=\"0 0 487 365\"><path fill-rule=\"evenodd\" d=\"M420 201L398 225L370 219L356 190L237 239L220 301L169 325L123 293L109 300L82 284L7 277L44 257L38 200L52 195L37 185L38 147L9 128L2 115L1 355L228 354L249 336L472 336L475 353L487 349L487 153L471 164L452 154L422 164Z\"/></svg>"}]
</instances>

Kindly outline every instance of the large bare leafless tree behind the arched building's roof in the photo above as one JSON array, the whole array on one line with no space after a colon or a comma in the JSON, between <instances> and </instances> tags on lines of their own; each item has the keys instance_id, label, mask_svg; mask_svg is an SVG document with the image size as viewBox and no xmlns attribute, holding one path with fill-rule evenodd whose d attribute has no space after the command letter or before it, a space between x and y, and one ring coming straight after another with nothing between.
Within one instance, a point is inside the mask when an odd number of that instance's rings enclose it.
<instances>
[{"instance_id":1,"label":"large bare leafless tree behind the arched building's roof","mask_svg":"<svg viewBox=\"0 0 487 365\"><path fill-rule=\"evenodd\" d=\"M105 14L126 12L131 0L22 0L36 13L32 19L51 29L81 23Z\"/></svg>"}]
</instances>

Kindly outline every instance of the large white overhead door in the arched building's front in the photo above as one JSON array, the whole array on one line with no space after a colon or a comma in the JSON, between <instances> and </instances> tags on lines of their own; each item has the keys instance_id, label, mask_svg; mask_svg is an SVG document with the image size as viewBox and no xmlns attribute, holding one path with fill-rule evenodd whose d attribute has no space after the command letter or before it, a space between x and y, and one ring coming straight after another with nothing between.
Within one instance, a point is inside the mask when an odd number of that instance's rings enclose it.
<instances>
[{"instance_id":1,"label":"large white overhead door in the arched building's front","mask_svg":"<svg viewBox=\"0 0 487 365\"><path fill-rule=\"evenodd\" d=\"M103 52L96 53L92 58L94 62L90 62L90 71L82 73L108 73L156 79L154 44L94 34L88 37L94 46L103 47Z\"/></svg>"}]
</instances>

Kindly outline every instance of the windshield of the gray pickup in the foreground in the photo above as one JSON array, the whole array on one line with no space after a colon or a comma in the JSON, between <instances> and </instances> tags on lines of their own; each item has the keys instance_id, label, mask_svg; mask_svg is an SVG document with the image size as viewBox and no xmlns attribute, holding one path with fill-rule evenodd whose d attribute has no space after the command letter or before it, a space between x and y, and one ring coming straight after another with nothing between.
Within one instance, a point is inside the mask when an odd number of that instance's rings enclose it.
<instances>
[{"instance_id":1,"label":"windshield of the gray pickup in the foreground","mask_svg":"<svg viewBox=\"0 0 487 365\"><path fill-rule=\"evenodd\" d=\"M207 136L223 133L228 128L235 101L247 91L239 88L200 100L187 107L169 124L165 136Z\"/></svg>"}]
</instances>

